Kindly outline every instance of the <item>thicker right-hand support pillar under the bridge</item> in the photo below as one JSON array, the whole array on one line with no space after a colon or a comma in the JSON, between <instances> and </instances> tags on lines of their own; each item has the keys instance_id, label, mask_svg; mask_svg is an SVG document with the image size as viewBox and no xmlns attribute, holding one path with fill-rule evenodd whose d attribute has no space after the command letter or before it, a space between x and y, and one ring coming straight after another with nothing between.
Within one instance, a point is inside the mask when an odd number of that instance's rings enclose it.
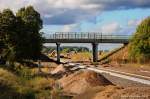
<instances>
[{"instance_id":1,"label":"thicker right-hand support pillar under the bridge","mask_svg":"<svg viewBox=\"0 0 150 99\"><path fill-rule=\"evenodd\" d=\"M92 43L93 62L98 61L98 43Z\"/></svg>"}]
</instances>

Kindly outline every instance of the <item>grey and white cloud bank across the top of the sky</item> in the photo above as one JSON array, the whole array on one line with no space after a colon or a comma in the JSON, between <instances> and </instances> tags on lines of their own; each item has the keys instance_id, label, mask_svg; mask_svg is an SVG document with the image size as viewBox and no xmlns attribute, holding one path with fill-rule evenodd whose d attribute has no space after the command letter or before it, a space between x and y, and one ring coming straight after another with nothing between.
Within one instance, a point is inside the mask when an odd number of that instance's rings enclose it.
<instances>
[{"instance_id":1,"label":"grey and white cloud bank across the top of the sky","mask_svg":"<svg viewBox=\"0 0 150 99\"><path fill-rule=\"evenodd\" d=\"M66 25L89 20L106 10L150 8L150 0L0 0L0 10L16 11L27 5L33 5L41 13L45 24ZM66 16L70 22L66 22Z\"/></svg>"}]
</instances>

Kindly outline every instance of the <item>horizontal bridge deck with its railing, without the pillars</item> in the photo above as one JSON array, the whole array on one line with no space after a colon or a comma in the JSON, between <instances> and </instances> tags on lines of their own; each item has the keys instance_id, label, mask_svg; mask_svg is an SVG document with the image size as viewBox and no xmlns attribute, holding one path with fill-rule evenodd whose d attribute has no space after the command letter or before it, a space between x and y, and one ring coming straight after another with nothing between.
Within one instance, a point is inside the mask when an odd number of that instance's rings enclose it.
<instances>
[{"instance_id":1,"label":"horizontal bridge deck with its railing, without the pillars","mask_svg":"<svg viewBox=\"0 0 150 99\"><path fill-rule=\"evenodd\" d=\"M45 37L44 43L128 43L130 35L101 33L55 33Z\"/></svg>"}]
</instances>

